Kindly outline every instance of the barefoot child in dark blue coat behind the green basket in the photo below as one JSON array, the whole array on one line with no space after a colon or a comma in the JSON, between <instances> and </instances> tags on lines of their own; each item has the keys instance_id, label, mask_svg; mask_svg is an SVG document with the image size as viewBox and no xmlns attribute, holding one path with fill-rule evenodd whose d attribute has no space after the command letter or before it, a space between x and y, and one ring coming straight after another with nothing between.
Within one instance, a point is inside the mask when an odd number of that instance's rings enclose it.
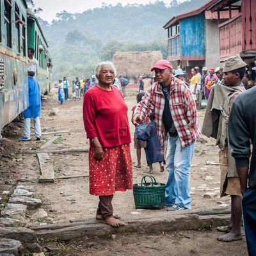
<instances>
[{"instance_id":1,"label":"barefoot child in dark blue coat behind the green basket","mask_svg":"<svg viewBox=\"0 0 256 256\"><path fill-rule=\"evenodd\" d=\"M156 115L152 113L150 116L150 123L147 125L145 131L138 133L138 139L147 141L147 147L145 148L147 164L149 166L149 173L153 173L154 163L160 164L160 172L164 172L164 154L163 147L159 141L156 132Z\"/></svg>"}]
</instances>

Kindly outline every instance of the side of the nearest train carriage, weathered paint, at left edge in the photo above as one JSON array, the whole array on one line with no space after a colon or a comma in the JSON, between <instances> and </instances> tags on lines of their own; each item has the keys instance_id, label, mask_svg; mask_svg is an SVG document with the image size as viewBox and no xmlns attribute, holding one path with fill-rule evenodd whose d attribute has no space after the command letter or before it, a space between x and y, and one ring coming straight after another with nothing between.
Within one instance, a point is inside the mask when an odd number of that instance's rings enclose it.
<instances>
[{"instance_id":1,"label":"side of the nearest train carriage, weathered paint, at left edge","mask_svg":"<svg viewBox=\"0 0 256 256\"><path fill-rule=\"evenodd\" d=\"M28 108L27 4L0 0L0 138L9 124Z\"/></svg>"}]
</instances>

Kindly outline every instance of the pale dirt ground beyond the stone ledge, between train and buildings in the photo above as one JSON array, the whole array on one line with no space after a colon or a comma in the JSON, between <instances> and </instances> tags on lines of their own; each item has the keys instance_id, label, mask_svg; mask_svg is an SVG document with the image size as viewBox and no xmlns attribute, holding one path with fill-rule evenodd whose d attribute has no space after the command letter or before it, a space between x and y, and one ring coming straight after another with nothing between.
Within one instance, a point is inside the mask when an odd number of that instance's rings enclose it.
<instances>
[{"instance_id":1,"label":"pale dirt ground beyond the stone ledge, between train and buildings","mask_svg":"<svg viewBox=\"0 0 256 256\"><path fill-rule=\"evenodd\" d=\"M125 99L129 107L129 120L131 120L132 106L136 104L136 97ZM83 127L83 101L63 102L56 99L48 99L42 106L41 124L42 131L60 131L70 130L69 133L61 134L60 138L52 143L47 149L63 149L71 147L88 147L86 133ZM50 115L51 111L56 115ZM204 110L198 111L198 118L202 124ZM44 199L43 209L48 213L47 223L63 222L72 218L87 218L95 215L97 209L97 196L88 193L88 177L57 180L54 183L38 183L40 168L36 155L15 154L17 150L33 150L39 148L45 141L53 138L54 135L43 135L44 141L35 140L20 142L19 136L22 134L23 124L13 123L12 129L9 129L9 135L6 135L8 141L2 141L0 147L3 149L3 157L0 158L1 177L3 186L0 190L8 190L13 181L19 178L28 178L31 181L26 184L36 184L36 195ZM15 132L17 135L15 135ZM134 125L131 124L131 134L134 132ZM10 135L12 134L12 135ZM13 135L14 134L14 135ZM136 150L132 143L132 161L136 163ZM214 140L202 137L196 142L195 156L191 166L191 196L193 209L205 209L207 207L225 207L230 205L228 196L220 198L220 171L218 165L207 165L206 161L218 162L218 148L214 146ZM13 150L13 153L10 151ZM58 175L84 175L88 174L88 154L60 154L52 155L51 161L54 166L56 177ZM147 174L148 167L145 159L145 152L141 154L141 168L133 169L134 183L140 182L141 177ZM157 182L166 182L168 173L159 172L159 164L154 164L154 177ZM198 188L199 187L199 188ZM214 198L204 198L207 191L217 193ZM132 216L132 214L148 214L150 210L136 211L132 191L126 193L116 193L113 199L115 213L120 216ZM157 210L158 211L158 210ZM159 211L166 211L165 209Z\"/></svg>"}]
</instances>

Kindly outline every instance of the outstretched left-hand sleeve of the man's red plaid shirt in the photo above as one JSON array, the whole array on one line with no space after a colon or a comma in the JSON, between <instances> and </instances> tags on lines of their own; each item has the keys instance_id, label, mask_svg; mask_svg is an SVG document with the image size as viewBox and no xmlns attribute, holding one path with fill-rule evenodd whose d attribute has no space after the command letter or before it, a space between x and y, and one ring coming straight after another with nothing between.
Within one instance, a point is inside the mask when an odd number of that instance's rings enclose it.
<instances>
[{"instance_id":1,"label":"outstretched left-hand sleeve of the man's red plaid shirt","mask_svg":"<svg viewBox=\"0 0 256 256\"><path fill-rule=\"evenodd\" d=\"M154 112L154 100L153 100L153 89L154 86L150 86L143 96L141 102L138 103L136 109L134 110L134 115L140 114L142 118L146 118L148 116L148 113Z\"/></svg>"}]
</instances>

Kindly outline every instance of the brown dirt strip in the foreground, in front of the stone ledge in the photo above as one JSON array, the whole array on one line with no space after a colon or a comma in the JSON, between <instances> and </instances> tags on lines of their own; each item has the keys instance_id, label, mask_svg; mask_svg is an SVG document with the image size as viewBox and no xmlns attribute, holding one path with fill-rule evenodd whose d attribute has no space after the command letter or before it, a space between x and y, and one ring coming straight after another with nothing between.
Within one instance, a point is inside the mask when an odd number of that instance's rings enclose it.
<instances>
[{"instance_id":1,"label":"brown dirt strip in the foreground, in front of the stone ledge","mask_svg":"<svg viewBox=\"0 0 256 256\"><path fill-rule=\"evenodd\" d=\"M60 256L243 256L248 255L246 243L217 243L216 231L186 231L163 234L125 234L108 239L83 239L59 244ZM232 246L231 246L232 245Z\"/></svg>"}]
</instances>

